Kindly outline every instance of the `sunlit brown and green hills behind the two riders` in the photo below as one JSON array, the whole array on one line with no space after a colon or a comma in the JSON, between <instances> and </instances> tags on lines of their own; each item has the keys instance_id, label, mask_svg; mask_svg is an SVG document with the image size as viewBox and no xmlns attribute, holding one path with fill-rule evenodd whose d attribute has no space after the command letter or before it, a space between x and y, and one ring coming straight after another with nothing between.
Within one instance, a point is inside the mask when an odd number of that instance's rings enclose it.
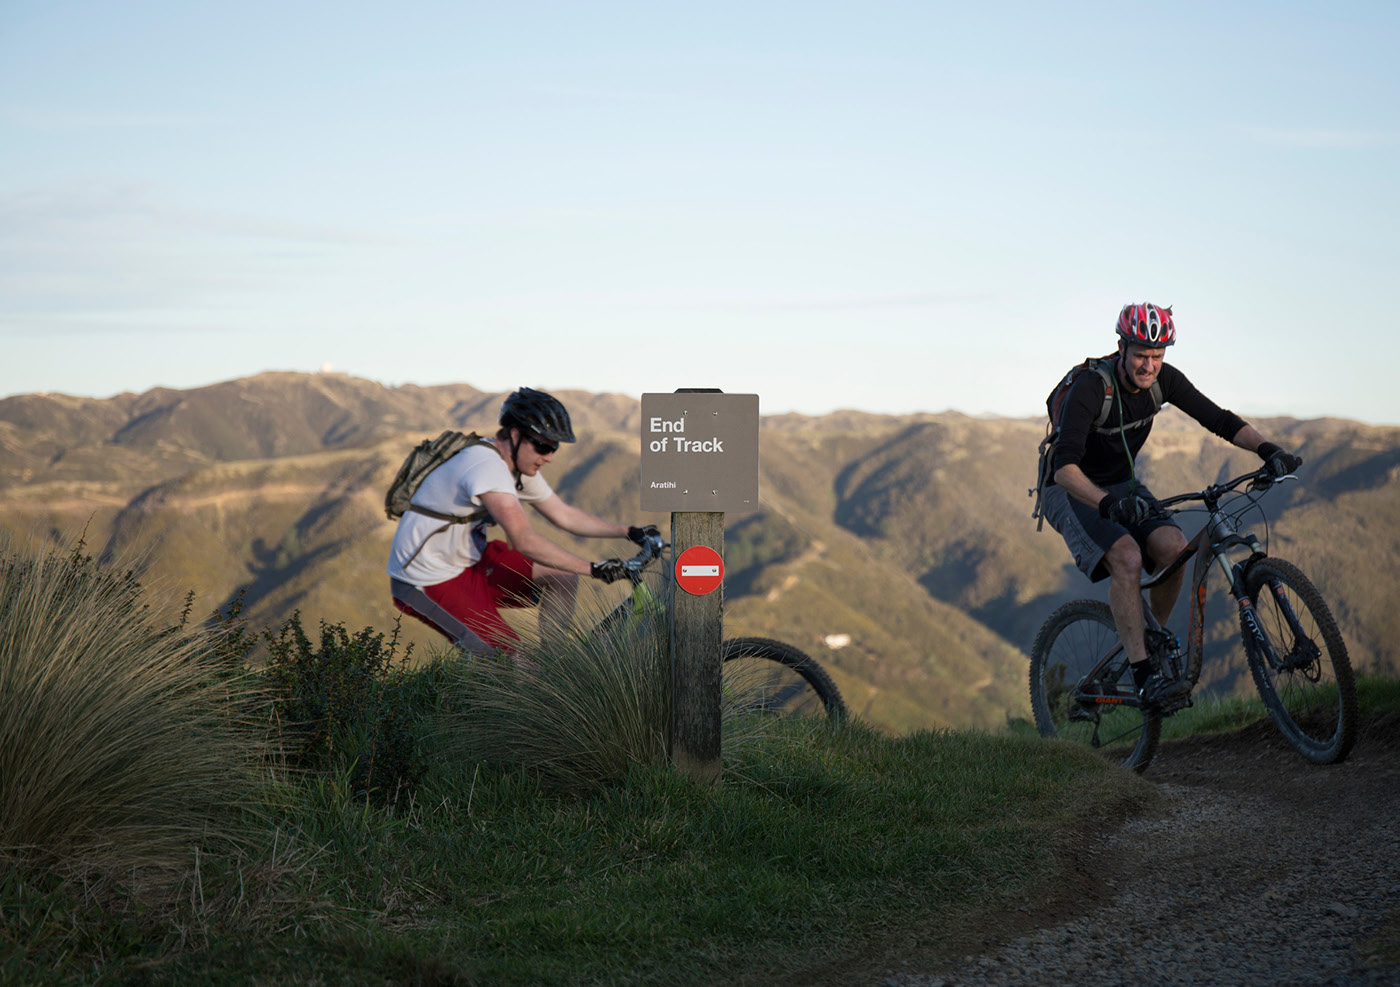
<instances>
[{"instance_id":1,"label":"sunlit brown and green hills behind the two riders","mask_svg":"<svg viewBox=\"0 0 1400 987\"><path fill-rule=\"evenodd\" d=\"M557 393L580 442L549 469L556 489L603 517L669 524L638 510L638 402ZM141 557L147 582L172 598L193 589L200 612L241 594L255 626L300 609L312 623L386 631L393 525L384 489L424 435L494 428L501 396L466 384L269 372L109 399L0 399L0 531L85 531L88 546ZM1271 550L1313 575L1359 668L1400 673L1390 603L1400 589L1400 428L1256 424L1305 458L1305 484L1264 501ZM725 518L727 633L811 651L853 707L890 729L1025 715L1036 626L1091 592L1060 538L1030 519L1042 434L1043 421L958 413L763 419L760 507ZM1166 493L1252 462L1168 409L1142 468ZM561 542L588 557L630 547ZM589 587L599 605L617 592ZM1221 599L1208 612L1219 638L1208 676L1233 687L1233 617ZM416 626L405 633L437 645Z\"/></svg>"}]
</instances>

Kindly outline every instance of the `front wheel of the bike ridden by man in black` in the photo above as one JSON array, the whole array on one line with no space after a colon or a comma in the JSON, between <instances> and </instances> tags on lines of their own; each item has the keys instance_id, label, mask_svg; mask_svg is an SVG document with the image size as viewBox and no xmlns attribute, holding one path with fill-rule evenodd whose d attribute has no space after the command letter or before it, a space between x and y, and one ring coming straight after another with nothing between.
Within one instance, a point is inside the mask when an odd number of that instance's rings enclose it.
<instances>
[{"instance_id":1,"label":"front wheel of the bike ridden by man in black","mask_svg":"<svg viewBox=\"0 0 1400 987\"><path fill-rule=\"evenodd\" d=\"M1284 738L1317 764L1357 742L1357 682L1347 644L1322 594L1296 566L1259 559L1245 571L1257 629L1240 613L1249 669Z\"/></svg>"}]
</instances>

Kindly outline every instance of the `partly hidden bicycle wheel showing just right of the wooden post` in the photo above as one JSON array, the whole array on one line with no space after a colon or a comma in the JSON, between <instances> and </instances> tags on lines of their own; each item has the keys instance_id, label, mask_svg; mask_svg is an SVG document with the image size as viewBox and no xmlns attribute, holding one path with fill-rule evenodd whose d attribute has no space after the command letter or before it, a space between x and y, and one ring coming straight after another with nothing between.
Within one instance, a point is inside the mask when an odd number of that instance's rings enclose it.
<instances>
[{"instance_id":1,"label":"partly hidden bicycle wheel showing just right of the wooden post","mask_svg":"<svg viewBox=\"0 0 1400 987\"><path fill-rule=\"evenodd\" d=\"M721 645L724 690L745 713L846 717L841 692L806 652L767 637Z\"/></svg>"}]
</instances>

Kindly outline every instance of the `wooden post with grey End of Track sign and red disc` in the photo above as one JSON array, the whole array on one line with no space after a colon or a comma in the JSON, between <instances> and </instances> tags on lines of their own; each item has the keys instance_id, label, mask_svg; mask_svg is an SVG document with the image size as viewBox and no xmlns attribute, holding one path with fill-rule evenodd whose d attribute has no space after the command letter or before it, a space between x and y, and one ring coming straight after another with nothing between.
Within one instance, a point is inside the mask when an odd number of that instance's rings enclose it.
<instances>
[{"instance_id":1,"label":"wooden post with grey End of Track sign and red disc","mask_svg":"<svg viewBox=\"0 0 1400 987\"><path fill-rule=\"evenodd\" d=\"M671 511L671 763L718 780L724 512L759 503L759 396L641 396L641 508Z\"/></svg>"}]
</instances>

